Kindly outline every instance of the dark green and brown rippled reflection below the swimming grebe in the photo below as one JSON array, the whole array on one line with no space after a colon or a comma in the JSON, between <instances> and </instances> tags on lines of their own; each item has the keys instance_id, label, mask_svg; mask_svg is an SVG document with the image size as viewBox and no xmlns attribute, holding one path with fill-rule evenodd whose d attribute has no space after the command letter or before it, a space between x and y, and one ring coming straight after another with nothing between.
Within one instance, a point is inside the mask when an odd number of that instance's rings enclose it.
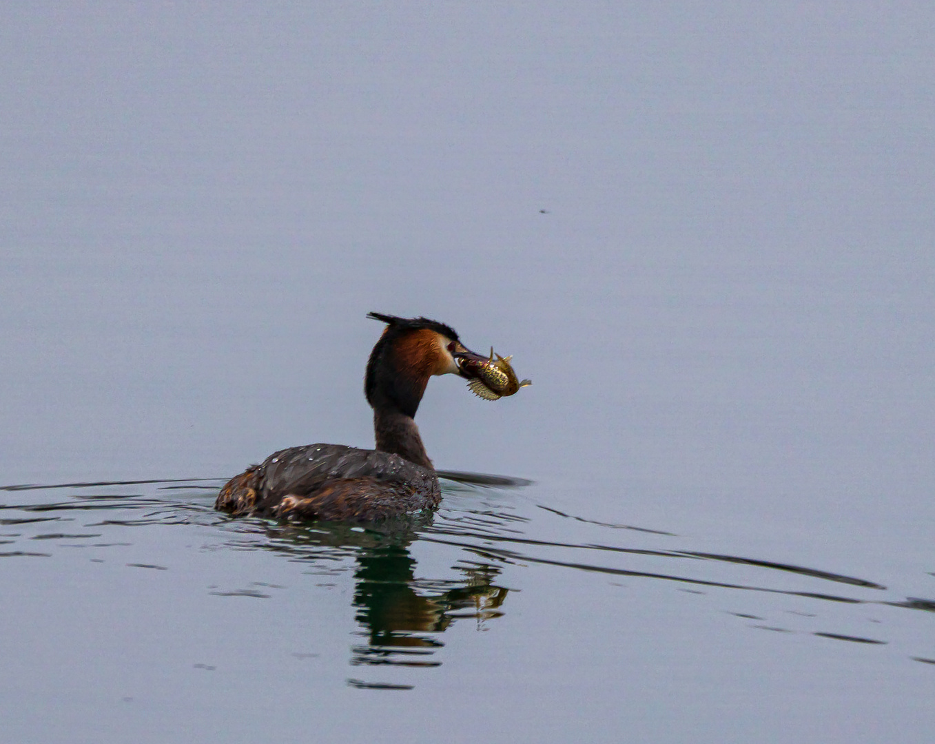
<instances>
[{"instance_id":1,"label":"dark green and brown rippled reflection below the swimming grebe","mask_svg":"<svg viewBox=\"0 0 935 744\"><path fill-rule=\"evenodd\" d=\"M388 522L361 530L347 524L266 525L266 548L304 560L334 560L352 555L353 607L367 643L352 647L352 665L439 666L432 658L444 644L439 639L455 620L473 619L478 630L503 612L509 590L497 586L500 569L459 561L455 579L417 579L410 545L416 528L430 523ZM330 571L329 571L330 572Z\"/></svg>"}]
</instances>

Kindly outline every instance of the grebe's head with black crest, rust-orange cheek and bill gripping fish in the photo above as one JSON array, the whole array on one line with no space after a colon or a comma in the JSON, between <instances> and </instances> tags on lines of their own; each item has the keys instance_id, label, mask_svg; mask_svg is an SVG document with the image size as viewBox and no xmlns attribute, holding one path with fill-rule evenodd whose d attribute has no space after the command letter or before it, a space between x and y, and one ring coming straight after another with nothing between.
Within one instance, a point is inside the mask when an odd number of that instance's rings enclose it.
<instances>
[{"instance_id":1,"label":"grebe's head with black crest, rust-orange cheek and bill gripping fish","mask_svg":"<svg viewBox=\"0 0 935 744\"><path fill-rule=\"evenodd\" d=\"M466 349L450 325L378 312L367 313L367 318L386 323L370 352L364 383L367 402L375 410L396 410L414 418L430 377L468 378L458 363L485 359Z\"/></svg>"}]
</instances>

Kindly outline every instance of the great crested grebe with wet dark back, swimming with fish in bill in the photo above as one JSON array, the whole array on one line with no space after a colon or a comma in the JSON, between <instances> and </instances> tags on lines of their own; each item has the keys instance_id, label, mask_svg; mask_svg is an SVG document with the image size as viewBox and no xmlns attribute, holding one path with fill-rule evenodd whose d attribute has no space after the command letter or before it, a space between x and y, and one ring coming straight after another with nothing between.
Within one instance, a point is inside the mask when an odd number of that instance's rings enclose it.
<instances>
[{"instance_id":1,"label":"great crested grebe with wet dark back, swimming with fish in bill","mask_svg":"<svg viewBox=\"0 0 935 744\"><path fill-rule=\"evenodd\" d=\"M274 452L230 479L214 508L235 515L373 522L438 506L439 477L415 425L416 409L432 375L471 379L468 370L488 360L465 349L444 323L376 312L367 317L387 324L370 352L364 383L377 448L310 444Z\"/></svg>"}]
</instances>

